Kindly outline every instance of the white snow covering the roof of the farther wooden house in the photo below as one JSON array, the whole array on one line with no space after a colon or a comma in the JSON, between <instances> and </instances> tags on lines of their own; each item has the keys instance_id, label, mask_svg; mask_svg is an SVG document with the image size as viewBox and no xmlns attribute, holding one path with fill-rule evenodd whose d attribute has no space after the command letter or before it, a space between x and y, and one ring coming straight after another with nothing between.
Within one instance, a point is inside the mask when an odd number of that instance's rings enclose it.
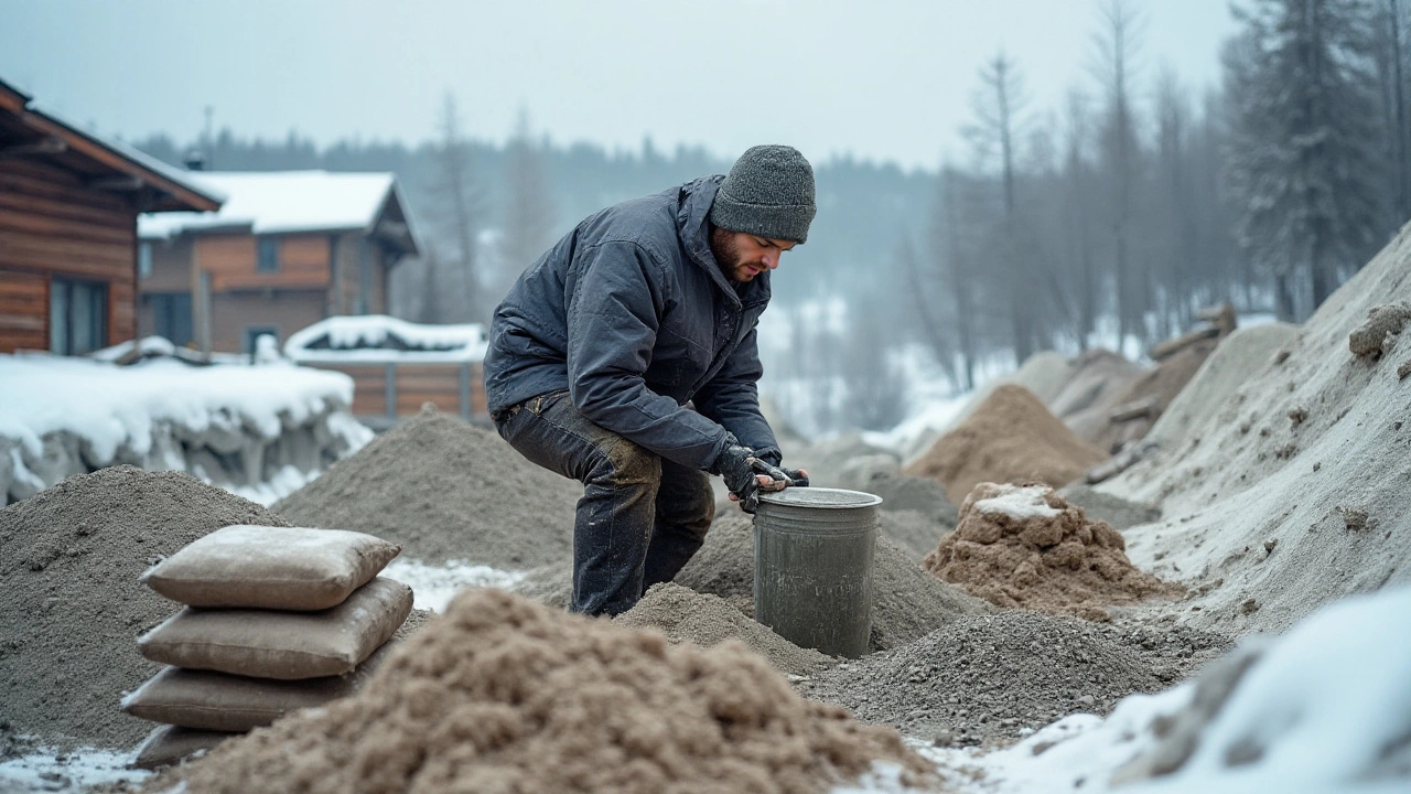
<instances>
[{"instance_id":1,"label":"white snow covering the roof of the farther wooden house","mask_svg":"<svg viewBox=\"0 0 1411 794\"><path fill-rule=\"evenodd\" d=\"M392 174L327 171L186 172L186 181L226 196L217 212L164 212L137 218L145 240L200 229L246 227L254 235L370 230L394 191Z\"/></svg>"}]
</instances>

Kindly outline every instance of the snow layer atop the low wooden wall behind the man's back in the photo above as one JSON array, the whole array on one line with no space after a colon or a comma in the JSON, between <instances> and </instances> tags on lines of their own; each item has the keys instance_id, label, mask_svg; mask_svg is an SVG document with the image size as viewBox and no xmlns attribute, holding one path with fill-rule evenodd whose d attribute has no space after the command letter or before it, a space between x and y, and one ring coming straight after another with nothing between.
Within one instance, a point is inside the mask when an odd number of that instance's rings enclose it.
<instances>
[{"instance_id":1,"label":"snow layer atop the low wooden wall behind the man's back","mask_svg":"<svg viewBox=\"0 0 1411 794\"><path fill-rule=\"evenodd\" d=\"M487 348L480 324L419 325L377 314L315 322L289 335L284 355L295 362L478 362Z\"/></svg>"}]
</instances>

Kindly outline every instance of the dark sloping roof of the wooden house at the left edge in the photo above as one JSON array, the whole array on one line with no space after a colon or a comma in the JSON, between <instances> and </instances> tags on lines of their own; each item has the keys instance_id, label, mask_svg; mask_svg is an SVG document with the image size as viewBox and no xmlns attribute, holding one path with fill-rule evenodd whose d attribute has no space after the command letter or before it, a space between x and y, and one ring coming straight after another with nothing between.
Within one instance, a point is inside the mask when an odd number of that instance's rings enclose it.
<instances>
[{"instance_id":1,"label":"dark sloping roof of the wooden house at the left edge","mask_svg":"<svg viewBox=\"0 0 1411 794\"><path fill-rule=\"evenodd\" d=\"M214 211L224 196L126 144L86 133L0 81L0 154L44 160L95 189L130 192L148 212Z\"/></svg>"}]
</instances>

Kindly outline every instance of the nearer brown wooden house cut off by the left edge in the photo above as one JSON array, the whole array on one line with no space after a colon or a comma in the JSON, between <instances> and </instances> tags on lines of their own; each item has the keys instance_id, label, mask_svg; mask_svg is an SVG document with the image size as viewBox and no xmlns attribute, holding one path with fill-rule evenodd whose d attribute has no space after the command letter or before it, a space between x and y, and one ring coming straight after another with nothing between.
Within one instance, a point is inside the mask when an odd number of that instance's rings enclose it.
<instances>
[{"instance_id":1,"label":"nearer brown wooden house cut off by the left edge","mask_svg":"<svg viewBox=\"0 0 1411 794\"><path fill-rule=\"evenodd\" d=\"M0 353L80 355L133 339L138 213L219 206L182 171L80 131L0 81Z\"/></svg>"}]
</instances>

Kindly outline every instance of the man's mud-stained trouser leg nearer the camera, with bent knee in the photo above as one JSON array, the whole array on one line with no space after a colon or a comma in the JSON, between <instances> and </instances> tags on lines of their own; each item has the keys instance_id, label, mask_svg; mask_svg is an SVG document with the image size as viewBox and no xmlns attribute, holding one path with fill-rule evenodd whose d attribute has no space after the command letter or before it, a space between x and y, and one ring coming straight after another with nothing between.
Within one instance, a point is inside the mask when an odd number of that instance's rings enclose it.
<instances>
[{"instance_id":1,"label":"man's mud-stained trouser leg nearer the camera, with bent knee","mask_svg":"<svg viewBox=\"0 0 1411 794\"><path fill-rule=\"evenodd\" d=\"M662 459L588 421L567 391L528 400L497 417L495 427L521 455L584 486L573 521L569 609L584 615L632 609L642 598Z\"/></svg>"}]
</instances>

